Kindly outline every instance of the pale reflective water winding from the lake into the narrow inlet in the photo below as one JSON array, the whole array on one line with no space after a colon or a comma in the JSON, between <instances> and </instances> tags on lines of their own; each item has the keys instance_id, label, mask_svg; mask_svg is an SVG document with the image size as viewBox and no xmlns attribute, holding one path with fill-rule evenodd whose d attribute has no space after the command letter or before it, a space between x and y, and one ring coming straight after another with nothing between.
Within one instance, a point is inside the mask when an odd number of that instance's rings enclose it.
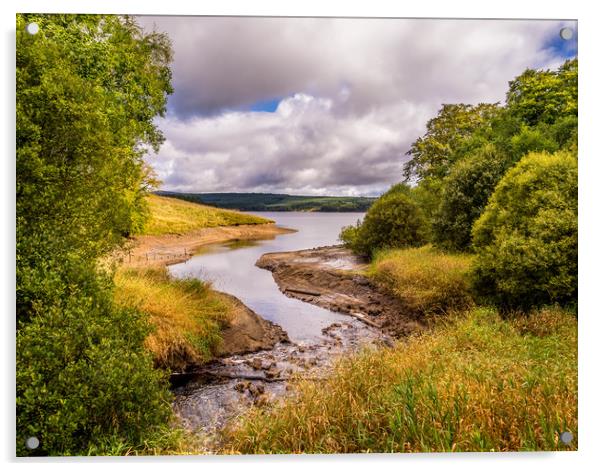
<instances>
[{"instance_id":1,"label":"pale reflective water winding from the lake into the narrow inlet","mask_svg":"<svg viewBox=\"0 0 602 471\"><path fill-rule=\"evenodd\" d=\"M293 342L322 338L322 329L348 320L280 292L272 273L255 262L268 252L288 252L339 244L343 226L355 224L363 213L254 212L298 232L270 240L230 242L207 246L190 260L169 267L177 277L211 281L215 289L232 294L260 316L280 325Z\"/></svg>"}]
</instances>

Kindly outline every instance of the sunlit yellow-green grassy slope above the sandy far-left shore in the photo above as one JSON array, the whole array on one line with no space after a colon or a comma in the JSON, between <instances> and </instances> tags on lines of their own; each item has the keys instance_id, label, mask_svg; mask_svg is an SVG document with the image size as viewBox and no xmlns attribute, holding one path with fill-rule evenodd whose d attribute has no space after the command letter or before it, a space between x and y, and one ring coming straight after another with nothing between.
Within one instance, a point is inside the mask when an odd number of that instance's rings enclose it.
<instances>
[{"instance_id":1,"label":"sunlit yellow-green grassy slope above the sandy far-left shore","mask_svg":"<svg viewBox=\"0 0 602 471\"><path fill-rule=\"evenodd\" d=\"M274 222L252 214L213 208L176 198L149 195L150 218L143 234L184 234L206 227L239 226L242 224L266 224Z\"/></svg>"}]
</instances>

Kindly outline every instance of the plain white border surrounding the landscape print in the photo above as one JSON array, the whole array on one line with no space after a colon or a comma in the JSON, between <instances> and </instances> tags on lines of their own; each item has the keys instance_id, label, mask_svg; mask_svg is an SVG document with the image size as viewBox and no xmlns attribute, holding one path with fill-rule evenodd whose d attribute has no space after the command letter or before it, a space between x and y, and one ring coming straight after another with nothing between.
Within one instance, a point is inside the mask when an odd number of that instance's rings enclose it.
<instances>
[{"instance_id":1,"label":"plain white border surrounding the landscape print","mask_svg":"<svg viewBox=\"0 0 602 471\"><path fill-rule=\"evenodd\" d=\"M599 250L598 202L601 184L598 181L602 153L595 152L599 140L602 109L599 91L600 82L600 16L594 9L595 2L576 1L524 1L504 0L501 2L476 2L470 0L420 2L386 2L380 0L330 2L324 0L297 0L294 3L277 0L232 0L185 2L180 0L134 0L129 2L94 0L73 2L72 0L33 1L24 0L9 6L2 4L2 74L3 110L0 113L4 155L2 162L3 204L0 217L4 222L2 234L2 283L4 312L4 351L2 405L5 418L0 428L2 457L15 464L14 453L14 27L16 12L71 12L71 13L132 13L132 14L193 14L193 15L275 15L275 16L390 16L390 17L451 17L451 18L550 18L579 20L579 107L580 107L580 316L579 316L579 451L575 453L510 453L510 454L429 454L429 455L330 455L300 457L165 457L142 459L44 459L22 460L26 468L44 464L53 469L80 467L86 464L94 467L110 465L125 468L143 465L145 468L164 469L172 464L178 467L226 467L227 469L260 467L262 469L304 469L307 467L355 467L373 466L395 468L462 469L489 470L526 467L562 469L579 467L588 469L600 462L597 450L600 448L602 417L598 405L600 392L600 366L602 358L601 342L597 336L602 332L599 309L597 308L597 276L601 265ZM596 47L597 46L597 47ZM595 139L598 138L598 139ZM598 149L596 149L596 147ZM598 239L598 240L597 240ZM558 348L562 348L559 345ZM589 466L588 466L589 465Z\"/></svg>"}]
</instances>

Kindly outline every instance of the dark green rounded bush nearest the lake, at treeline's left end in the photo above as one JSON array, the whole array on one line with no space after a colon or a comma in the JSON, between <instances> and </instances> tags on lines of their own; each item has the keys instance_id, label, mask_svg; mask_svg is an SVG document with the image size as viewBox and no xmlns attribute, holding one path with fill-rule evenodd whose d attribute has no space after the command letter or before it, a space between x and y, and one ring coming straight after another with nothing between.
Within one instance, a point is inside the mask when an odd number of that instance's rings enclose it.
<instances>
[{"instance_id":1,"label":"dark green rounded bush nearest the lake, at treeline's left end","mask_svg":"<svg viewBox=\"0 0 602 471\"><path fill-rule=\"evenodd\" d=\"M363 223L343 228L341 240L360 255L382 248L413 247L427 241L427 222L406 190L393 187L370 207Z\"/></svg>"}]
</instances>

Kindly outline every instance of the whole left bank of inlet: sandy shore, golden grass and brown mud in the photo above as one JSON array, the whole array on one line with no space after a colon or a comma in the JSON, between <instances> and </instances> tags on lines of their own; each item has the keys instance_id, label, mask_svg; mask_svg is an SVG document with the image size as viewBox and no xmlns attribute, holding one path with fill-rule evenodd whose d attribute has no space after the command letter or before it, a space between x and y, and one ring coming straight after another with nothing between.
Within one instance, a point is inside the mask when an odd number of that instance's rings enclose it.
<instances>
[{"instance_id":1,"label":"whole left bank of inlet: sandy shore, golden grass and brown mud","mask_svg":"<svg viewBox=\"0 0 602 471\"><path fill-rule=\"evenodd\" d=\"M291 232L295 231L266 223L133 237L129 248L117 255L116 301L148 315L154 332L146 346L155 364L183 372L215 358L269 350L288 342L280 326L234 296L200 280L174 279L165 267L190 259L209 244L272 239Z\"/></svg>"}]
</instances>

